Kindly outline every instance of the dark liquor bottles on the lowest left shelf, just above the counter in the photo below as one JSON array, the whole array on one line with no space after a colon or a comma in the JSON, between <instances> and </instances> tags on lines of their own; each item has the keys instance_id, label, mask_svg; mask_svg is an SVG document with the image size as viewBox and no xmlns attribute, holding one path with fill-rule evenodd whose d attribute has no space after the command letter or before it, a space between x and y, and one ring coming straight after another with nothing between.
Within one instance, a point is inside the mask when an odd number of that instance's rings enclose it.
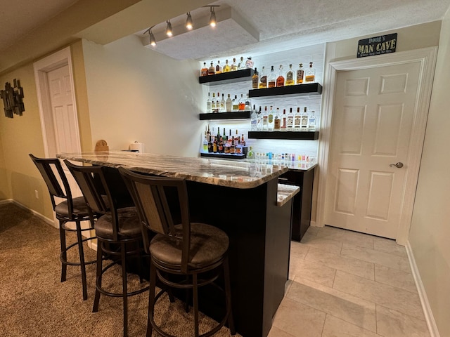
<instances>
[{"instance_id":1,"label":"dark liquor bottles on the lowest left shelf, just above the counter","mask_svg":"<svg viewBox=\"0 0 450 337\"><path fill-rule=\"evenodd\" d=\"M224 133L220 133L220 128L217 127L217 135L215 135L214 127L212 132L208 125L205 129L205 136L203 138L203 152L205 153L225 153L225 154L243 154L245 147L244 134L239 136L238 130L236 130L235 136L231 135L231 129L229 136Z\"/></svg>"}]
</instances>

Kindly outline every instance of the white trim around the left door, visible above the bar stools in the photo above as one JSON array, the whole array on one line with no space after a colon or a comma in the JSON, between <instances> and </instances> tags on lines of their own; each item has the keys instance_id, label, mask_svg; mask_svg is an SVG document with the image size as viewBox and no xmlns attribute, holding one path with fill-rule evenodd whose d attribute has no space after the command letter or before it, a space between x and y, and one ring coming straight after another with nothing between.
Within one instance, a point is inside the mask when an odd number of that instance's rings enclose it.
<instances>
[{"instance_id":1,"label":"white trim around the left door, visible above the bar stools","mask_svg":"<svg viewBox=\"0 0 450 337\"><path fill-rule=\"evenodd\" d=\"M78 112L77 112L77 100L75 99L75 84L73 81L72 71L72 53L70 52L70 46L56 53L53 53L46 58L42 58L37 62L34 62L34 80L36 81L37 90L37 102L39 105L39 117L41 119L41 131L42 140L44 142L44 153L46 157L53 157L53 152L56 149L56 140L51 134L53 132L53 113L51 110L50 102L50 88L49 81L47 80L47 73L52 70L56 70L60 67L68 65L70 74L70 84L72 86L72 102L73 112L75 114L75 128L76 128L76 152L81 152L81 141L79 139L79 126L78 126Z\"/></svg>"}]
</instances>

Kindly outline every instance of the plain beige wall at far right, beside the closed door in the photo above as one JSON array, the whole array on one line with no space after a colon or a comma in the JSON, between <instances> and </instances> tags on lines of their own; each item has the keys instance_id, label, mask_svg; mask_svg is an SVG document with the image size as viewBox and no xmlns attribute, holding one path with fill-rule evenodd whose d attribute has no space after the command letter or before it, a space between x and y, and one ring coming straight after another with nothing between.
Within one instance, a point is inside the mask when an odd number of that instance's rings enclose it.
<instances>
[{"instance_id":1,"label":"plain beige wall at far right, beside the closed door","mask_svg":"<svg viewBox=\"0 0 450 337\"><path fill-rule=\"evenodd\" d=\"M409 242L440 336L450 336L450 13L442 22Z\"/></svg>"}]
</instances>

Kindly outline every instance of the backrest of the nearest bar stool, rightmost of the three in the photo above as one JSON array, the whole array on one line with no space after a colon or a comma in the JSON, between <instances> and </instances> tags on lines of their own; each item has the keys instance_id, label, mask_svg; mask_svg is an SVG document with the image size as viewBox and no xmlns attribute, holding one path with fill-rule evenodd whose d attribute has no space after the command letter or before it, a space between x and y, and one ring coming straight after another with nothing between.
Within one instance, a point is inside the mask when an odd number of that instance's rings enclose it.
<instances>
[{"instance_id":1,"label":"backrest of the nearest bar stool, rightmost of the three","mask_svg":"<svg viewBox=\"0 0 450 337\"><path fill-rule=\"evenodd\" d=\"M186 180L146 176L134 173L123 167L119 168L125 185L133 198L139 218L143 225L143 242L146 252L150 246L148 230L171 237L181 244L181 271L187 272L189 249L191 245L191 218L188 208L188 190ZM176 230L171 206L167 201L167 192L176 191L179 211L181 213L182 230ZM172 200L172 199L171 199ZM172 206L172 210L176 207Z\"/></svg>"}]
</instances>

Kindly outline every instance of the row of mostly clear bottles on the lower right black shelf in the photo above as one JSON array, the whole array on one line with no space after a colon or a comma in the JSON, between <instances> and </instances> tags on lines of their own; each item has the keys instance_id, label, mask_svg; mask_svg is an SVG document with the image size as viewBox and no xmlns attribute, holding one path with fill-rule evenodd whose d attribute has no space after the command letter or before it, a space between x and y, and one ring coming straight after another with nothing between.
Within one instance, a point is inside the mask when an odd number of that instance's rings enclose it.
<instances>
[{"instance_id":1,"label":"row of mostly clear bottles on the lower right black shelf","mask_svg":"<svg viewBox=\"0 0 450 337\"><path fill-rule=\"evenodd\" d=\"M293 112L293 108L289 108L289 112L280 108L274 109L273 106L267 109L267 106L259 106L259 111L253 105L250 119L251 131L316 131L316 116L314 110L308 112L307 107L303 110L297 107L297 111Z\"/></svg>"}]
</instances>

